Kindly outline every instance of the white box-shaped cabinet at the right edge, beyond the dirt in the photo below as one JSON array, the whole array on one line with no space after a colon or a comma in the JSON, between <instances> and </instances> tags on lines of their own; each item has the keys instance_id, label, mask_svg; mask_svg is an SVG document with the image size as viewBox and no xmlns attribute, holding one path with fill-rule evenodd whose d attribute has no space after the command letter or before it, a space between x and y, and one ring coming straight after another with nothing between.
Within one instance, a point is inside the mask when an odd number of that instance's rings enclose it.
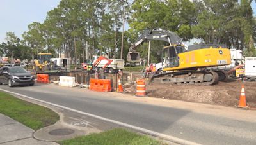
<instances>
[{"instance_id":1,"label":"white box-shaped cabinet at the right edge, beyond the dirt","mask_svg":"<svg viewBox=\"0 0 256 145\"><path fill-rule=\"evenodd\" d=\"M256 77L256 57L245 57L245 76ZM253 77L253 78L254 78Z\"/></svg>"}]
</instances>

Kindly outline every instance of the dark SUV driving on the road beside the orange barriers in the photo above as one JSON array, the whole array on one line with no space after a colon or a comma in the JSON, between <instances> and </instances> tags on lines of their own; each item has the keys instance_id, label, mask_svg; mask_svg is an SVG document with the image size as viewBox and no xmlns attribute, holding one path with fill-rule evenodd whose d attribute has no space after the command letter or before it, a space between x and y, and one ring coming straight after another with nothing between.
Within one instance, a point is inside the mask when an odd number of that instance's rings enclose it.
<instances>
[{"instance_id":1,"label":"dark SUV driving on the road beside the orange barriers","mask_svg":"<svg viewBox=\"0 0 256 145\"><path fill-rule=\"evenodd\" d=\"M35 78L23 67L4 66L0 69L0 84L3 83L8 84L10 87L15 85L33 86L35 83Z\"/></svg>"}]
</instances>

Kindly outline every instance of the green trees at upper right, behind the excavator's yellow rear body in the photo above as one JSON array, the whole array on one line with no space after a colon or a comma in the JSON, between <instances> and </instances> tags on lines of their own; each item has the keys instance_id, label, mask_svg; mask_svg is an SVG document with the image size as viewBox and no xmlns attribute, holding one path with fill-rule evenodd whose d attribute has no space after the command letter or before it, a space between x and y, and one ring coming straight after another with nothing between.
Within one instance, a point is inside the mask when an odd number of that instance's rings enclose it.
<instances>
[{"instance_id":1,"label":"green trees at upper right, behind the excavator's yellow rear body","mask_svg":"<svg viewBox=\"0 0 256 145\"><path fill-rule=\"evenodd\" d=\"M193 1L196 7L197 25L192 27L196 38L205 43L224 43L228 48L255 52L255 18L252 1L204 0Z\"/></svg>"}]
</instances>

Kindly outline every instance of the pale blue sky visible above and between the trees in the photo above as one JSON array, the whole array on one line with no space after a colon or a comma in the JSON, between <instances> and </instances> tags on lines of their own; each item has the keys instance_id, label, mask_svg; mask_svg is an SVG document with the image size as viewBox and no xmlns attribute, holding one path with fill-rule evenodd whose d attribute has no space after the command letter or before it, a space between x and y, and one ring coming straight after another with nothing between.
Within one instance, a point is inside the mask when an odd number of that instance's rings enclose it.
<instances>
[{"instance_id":1,"label":"pale blue sky visible above and between the trees","mask_svg":"<svg viewBox=\"0 0 256 145\"><path fill-rule=\"evenodd\" d=\"M4 42L6 32L14 32L22 38L28 25L33 22L44 22L47 11L54 9L61 0L0 0L0 43ZM256 14L256 3L252 8ZM254 14L254 15L255 15ZM128 26L127 26L128 27ZM126 28L127 29L127 28Z\"/></svg>"}]
</instances>

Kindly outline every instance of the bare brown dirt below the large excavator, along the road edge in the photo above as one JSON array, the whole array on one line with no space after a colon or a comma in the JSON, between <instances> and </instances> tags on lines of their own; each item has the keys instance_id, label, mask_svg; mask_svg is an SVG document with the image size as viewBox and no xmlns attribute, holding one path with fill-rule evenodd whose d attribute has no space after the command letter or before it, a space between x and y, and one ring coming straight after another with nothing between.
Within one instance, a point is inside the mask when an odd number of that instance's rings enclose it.
<instances>
[{"instance_id":1,"label":"bare brown dirt below the large excavator, along the road edge","mask_svg":"<svg viewBox=\"0 0 256 145\"><path fill-rule=\"evenodd\" d=\"M246 101L249 107L256 108L256 82L230 80L217 85L147 85L148 97L203 102L222 106L237 107L241 93L241 85L245 86ZM135 94L136 85L125 87L128 93Z\"/></svg>"}]
</instances>

